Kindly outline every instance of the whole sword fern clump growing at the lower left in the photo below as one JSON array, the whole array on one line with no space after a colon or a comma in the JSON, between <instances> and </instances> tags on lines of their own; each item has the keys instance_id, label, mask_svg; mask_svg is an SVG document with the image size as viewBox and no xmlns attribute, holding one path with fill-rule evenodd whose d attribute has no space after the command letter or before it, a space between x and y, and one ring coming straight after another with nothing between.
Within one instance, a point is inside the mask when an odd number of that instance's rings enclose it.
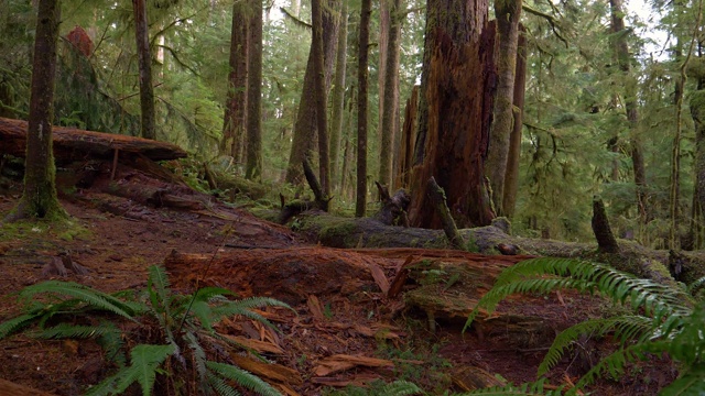
<instances>
[{"instance_id":1,"label":"whole sword fern clump growing at the lower left","mask_svg":"<svg viewBox=\"0 0 705 396\"><path fill-rule=\"evenodd\" d=\"M76 283L48 280L25 287L19 296L24 314L0 323L0 339L20 331L41 339L94 339L118 365L87 395L121 394L134 383L143 395L160 394L164 386L182 388L184 394L236 395L232 382L258 394L279 395L259 377L212 355L224 344L239 348L214 330L223 318L240 316L276 329L251 309L289 308L284 302L265 297L230 300L226 296L234 293L218 287L174 294L161 266L149 268L147 290L138 294L108 295ZM119 326L126 321L129 330ZM131 344L127 365L124 352ZM187 378L195 382L185 383Z\"/></svg>"}]
</instances>

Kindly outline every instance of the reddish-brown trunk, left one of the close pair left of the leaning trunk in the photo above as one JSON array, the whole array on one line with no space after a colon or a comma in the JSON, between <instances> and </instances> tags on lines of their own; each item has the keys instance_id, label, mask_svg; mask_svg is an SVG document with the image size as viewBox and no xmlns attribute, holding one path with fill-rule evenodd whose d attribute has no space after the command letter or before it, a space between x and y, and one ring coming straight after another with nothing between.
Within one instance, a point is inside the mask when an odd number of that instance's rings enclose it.
<instances>
[{"instance_id":1,"label":"reddish-brown trunk, left one of the close pair left of the leaning trunk","mask_svg":"<svg viewBox=\"0 0 705 396\"><path fill-rule=\"evenodd\" d=\"M247 109L248 25L247 7L236 1L232 4L229 88L220 142L220 154L230 155L236 163L242 162L241 147L245 143L247 120L245 109Z\"/></svg>"}]
</instances>

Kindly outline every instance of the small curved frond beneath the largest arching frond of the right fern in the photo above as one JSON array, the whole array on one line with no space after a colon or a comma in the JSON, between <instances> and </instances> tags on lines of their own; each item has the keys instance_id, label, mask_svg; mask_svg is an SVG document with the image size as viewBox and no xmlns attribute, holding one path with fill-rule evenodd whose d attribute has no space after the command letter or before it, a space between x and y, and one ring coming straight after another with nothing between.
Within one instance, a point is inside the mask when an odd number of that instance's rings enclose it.
<instances>
[{"instance_id":1,"label":"small curved frond beneath the largest arching frond of the right fern","mask_svg":"<svg viewBox=\"0 0 705 396\"><path fill-rule=\"evenodd\" d=\"M620 316L606 319L590 319L574 324L558 333L553 344L539 365L536 375L543 376L563 358L571 344L583 334L603 336L615 331L615 337L621 338L622 343L652 330L653 319L640 316Z\"/></svg>"}]
</instances>

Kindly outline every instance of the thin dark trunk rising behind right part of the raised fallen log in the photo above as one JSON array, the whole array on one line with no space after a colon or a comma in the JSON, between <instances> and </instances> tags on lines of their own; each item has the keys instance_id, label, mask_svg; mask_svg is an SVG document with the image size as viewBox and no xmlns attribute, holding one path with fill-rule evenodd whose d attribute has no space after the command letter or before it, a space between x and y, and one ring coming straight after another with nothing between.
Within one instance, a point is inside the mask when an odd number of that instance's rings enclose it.
<instances>
[{"instance_id":1,"label":"thin dark trunk rising behind right part of the raised fallen log","mask_svg":"<svg viewBox=\"0 0 705 396\"><path fill-rule=\"evenodd\" d=\"M147 1L132 0L132 9L134 11L134 37L137 38L140 69L141 134L144 139L156 139L154 132L154 88L152 87L152 54L150 53Z\"/></svg>"}]
</instances>

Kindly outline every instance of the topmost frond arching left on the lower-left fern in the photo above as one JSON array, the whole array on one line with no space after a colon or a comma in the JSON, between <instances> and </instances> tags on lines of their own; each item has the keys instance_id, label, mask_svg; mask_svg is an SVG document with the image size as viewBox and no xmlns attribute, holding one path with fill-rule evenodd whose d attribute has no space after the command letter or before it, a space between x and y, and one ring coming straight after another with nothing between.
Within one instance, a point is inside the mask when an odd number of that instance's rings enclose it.
<instances>
[{"instance_id":1,"label":"topmost frond arching left on the lower-left fern","mask_svg":"<svg viewBox=\"0 0 705 396\"><path fill-rule=\"evenodd\" d=\"M135 321L134 312L132 312L131 307L126 305L123 301L109 294L98 292L75 282L46 280L28 286L20 292L20 296L28 299L39 294L55 294L74 297L97 309L109 311L131 321Z\"/></svg>"}]
</instances>

